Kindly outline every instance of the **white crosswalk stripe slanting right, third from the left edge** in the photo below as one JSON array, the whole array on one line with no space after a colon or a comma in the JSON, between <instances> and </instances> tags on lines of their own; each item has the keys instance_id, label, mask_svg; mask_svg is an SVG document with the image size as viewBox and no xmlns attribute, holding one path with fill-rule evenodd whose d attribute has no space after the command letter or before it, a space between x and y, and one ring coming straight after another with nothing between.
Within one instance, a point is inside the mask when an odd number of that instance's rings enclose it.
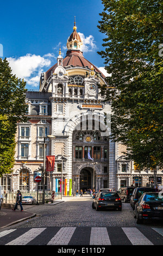
<instances>
[{"instance_id":1,"label":"white crosswalk stripe slanting right, third from the left edge","mask_svg":"<svg viewBox=\"0 0 163 256\"><path fill-rule=\"evenodd\" d=\"M47 245L68 245L76 228L61 228Z\"/></svg>"}]
</instances>

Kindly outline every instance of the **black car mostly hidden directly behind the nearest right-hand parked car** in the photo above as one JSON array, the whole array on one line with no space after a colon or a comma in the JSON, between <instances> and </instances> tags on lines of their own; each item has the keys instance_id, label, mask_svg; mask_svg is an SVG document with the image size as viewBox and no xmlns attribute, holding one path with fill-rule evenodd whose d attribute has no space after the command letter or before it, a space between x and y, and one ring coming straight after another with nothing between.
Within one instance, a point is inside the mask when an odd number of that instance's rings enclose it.
<instances>
[{"instance_id":1,"label":"black car mostly hidden directly behind the nearest right-hand parked car","mask_svg":"<svg viewBox=\"0 0 163 256\"><path fill-rule=\"evenodd\" d=\"M141 195L145 192L155 192L155 188L152 187L136 187L135 190L133 191L133 194L131 195L130 198L130 205L134 210L135 204L141 197Z\"/></svg>"}]
</instances>

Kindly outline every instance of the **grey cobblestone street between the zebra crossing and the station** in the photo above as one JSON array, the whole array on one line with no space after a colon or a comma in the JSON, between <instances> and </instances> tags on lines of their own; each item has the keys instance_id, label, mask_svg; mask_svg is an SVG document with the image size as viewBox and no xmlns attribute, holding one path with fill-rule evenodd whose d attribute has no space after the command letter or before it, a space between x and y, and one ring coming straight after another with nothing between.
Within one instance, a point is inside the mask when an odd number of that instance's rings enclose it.
<instances>
[{"instance_id":1,"label":"grey cobblestone street between the zebra crossing and the station","mask_svg":"<svg viewBox=\"0 0 163 256\"><path fill-rule=\"evenodd\" d=\"M26 206L26 211L34 212L37 217L18 224L18 227L137 227L130 203L122 203L122 212L117 210L96 211L92 209L90 196L63 198L64 203L57 205ZM152 223L146 225L152 226ZM161 222L154 222L163 227Z\"/></svg>"}]
</instances>

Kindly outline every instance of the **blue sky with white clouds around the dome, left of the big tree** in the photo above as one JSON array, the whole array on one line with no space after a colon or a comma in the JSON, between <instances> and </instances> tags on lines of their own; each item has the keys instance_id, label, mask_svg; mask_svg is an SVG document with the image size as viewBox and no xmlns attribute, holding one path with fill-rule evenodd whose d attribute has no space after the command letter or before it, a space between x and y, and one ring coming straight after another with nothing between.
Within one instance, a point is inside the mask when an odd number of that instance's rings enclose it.
<instances>
[{"instance_id":1,"label":"blue sky with white clouds around the dome, left of the big tree","mask_svg":"<svg viewBox=\"0 0 163 256\"><path fill-rule=\"evenodd\" d=\"M104 6L101 0L0 0L0 57L8 59L12 74L26 81L26 88L39 90L41 72L57 63L59 47L66 56L66 42L73 32L83 40L83 56L104 70L104 34L99 32Z\"/></svg>"}]
</instances>

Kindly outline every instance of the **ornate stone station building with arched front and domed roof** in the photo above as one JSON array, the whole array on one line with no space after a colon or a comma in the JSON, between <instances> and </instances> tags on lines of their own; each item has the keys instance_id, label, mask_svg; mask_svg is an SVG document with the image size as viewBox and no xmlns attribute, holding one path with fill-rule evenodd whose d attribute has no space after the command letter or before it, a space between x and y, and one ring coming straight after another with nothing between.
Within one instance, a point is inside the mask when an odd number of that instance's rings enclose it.
<instances>
[{"instance_id":1,"label":"ornate stone station building with arched front and domed roof","mask_svg":"<svg viewBox=\"0 0 163 256\"><path fill-rule=\"evenodd\" d=\"M126 147L111 140L111 102L99 89L105 77L83 57L81 46L74 26L66 57L59 52L57 63L41 74L39 92L27 92L29 120L17 125L15 166L7 186L1 178L3 188L35 191L34 175L45 171L46 155L55 155L54 170L45 172L48 191L60 191L61 170L64 194L70 195L93 186L152 185L153 170L136 170L125 159ZM163 184L161 170L157 175L158 185Z\"/></svg>"}]
</instances>

